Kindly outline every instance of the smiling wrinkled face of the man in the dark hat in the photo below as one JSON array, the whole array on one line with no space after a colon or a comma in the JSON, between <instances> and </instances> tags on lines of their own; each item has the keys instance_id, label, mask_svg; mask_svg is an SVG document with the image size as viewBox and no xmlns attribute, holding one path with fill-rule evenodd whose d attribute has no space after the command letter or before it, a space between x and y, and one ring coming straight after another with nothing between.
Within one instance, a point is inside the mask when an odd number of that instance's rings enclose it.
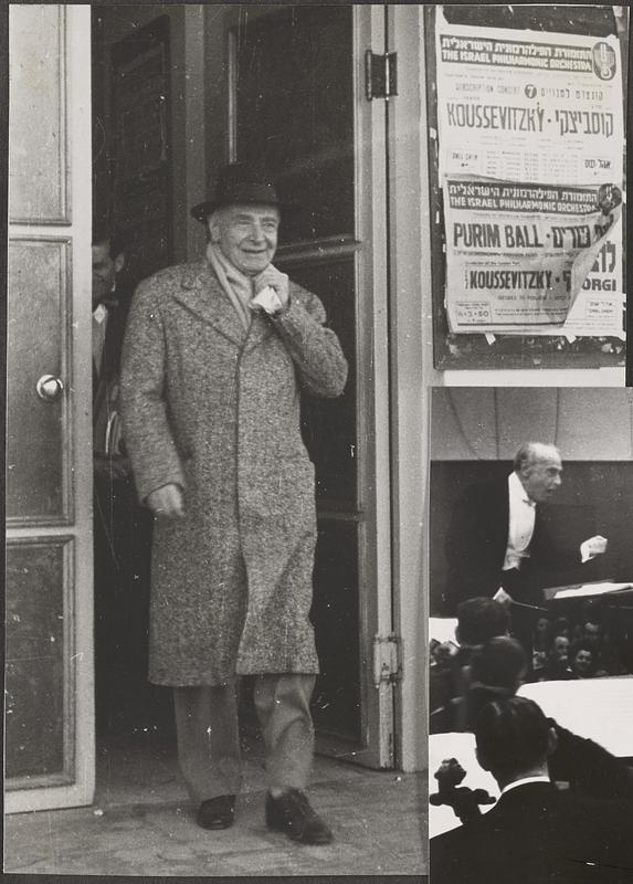
<instances>
[{"instance_id":1,"label":"smiling wrinkled face of the man in the dark hat","mask_svg":"<svg viewBox=\"0 0 633 884\"><path fill-rule=\"evenodd\" d=\"M228 206L210 215L211 241L247 276L264 271L277 249L279 212L274 206Z\"/></svg>"}]
</instances>

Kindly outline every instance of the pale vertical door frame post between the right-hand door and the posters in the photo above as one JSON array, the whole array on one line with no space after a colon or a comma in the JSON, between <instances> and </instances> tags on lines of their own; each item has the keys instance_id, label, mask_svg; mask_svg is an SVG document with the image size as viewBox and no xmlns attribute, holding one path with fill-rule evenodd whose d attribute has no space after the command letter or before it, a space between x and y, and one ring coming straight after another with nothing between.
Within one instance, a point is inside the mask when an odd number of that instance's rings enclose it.
<instances>
[{"instance_id":1,"label":"pale vertical door frame post between the right-hand door and the posters","mask_svg":"<svg viewBox=\"0 0 633 884\"><path fill-rule=\"evenodd\" d=\"M389 6L388 51L398 53L398 96L390 104L393 385L393 575L404 677L395 691L398 767L428 767L430 385L433 381L431 219L428 175L424 6Z\"/></svg>"}]
</instances>

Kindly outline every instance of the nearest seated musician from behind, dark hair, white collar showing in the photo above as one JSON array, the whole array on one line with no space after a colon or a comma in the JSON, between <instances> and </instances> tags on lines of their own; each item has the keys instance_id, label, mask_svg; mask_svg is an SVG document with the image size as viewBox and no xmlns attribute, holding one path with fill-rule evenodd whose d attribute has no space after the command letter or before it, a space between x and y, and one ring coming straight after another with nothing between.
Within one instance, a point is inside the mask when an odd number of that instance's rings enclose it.
<instances>
[{"instance_id":1,"label":"nearest seated musician from behind, dark hair, white collar showing","mask_svg":"<svg viewBox=\"0 0 633 884\"><path fill-rule=\"evenodd\" d=\"M536 703L524 697L488 703L475 738L477 759L502 794L478 819L431 839L432 884L631 878L633 804L556 789L548 758L557 734Z\"/></svg>"}]
</instances>

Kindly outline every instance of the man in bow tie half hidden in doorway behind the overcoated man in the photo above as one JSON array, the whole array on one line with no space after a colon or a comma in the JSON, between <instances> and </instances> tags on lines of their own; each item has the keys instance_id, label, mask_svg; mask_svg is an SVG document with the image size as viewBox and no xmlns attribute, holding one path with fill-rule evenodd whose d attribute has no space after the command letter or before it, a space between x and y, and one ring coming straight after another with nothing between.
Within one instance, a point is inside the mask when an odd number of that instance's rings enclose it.
<instances>
[{"instance_id":1,"label":"man in bow tie half hidden in doorway behind the overcoated man","mask_svg":"<svg viewBox=\"0 0 633 884\"><path fill-rule=\"evenodd\" d=\"M103 734L124 726L135 687L145 686L151 519L136 503L120 430L119 361L131 295L125 248L98 219L92 260L95 676Z\"/></svg>"}]
</instances>

